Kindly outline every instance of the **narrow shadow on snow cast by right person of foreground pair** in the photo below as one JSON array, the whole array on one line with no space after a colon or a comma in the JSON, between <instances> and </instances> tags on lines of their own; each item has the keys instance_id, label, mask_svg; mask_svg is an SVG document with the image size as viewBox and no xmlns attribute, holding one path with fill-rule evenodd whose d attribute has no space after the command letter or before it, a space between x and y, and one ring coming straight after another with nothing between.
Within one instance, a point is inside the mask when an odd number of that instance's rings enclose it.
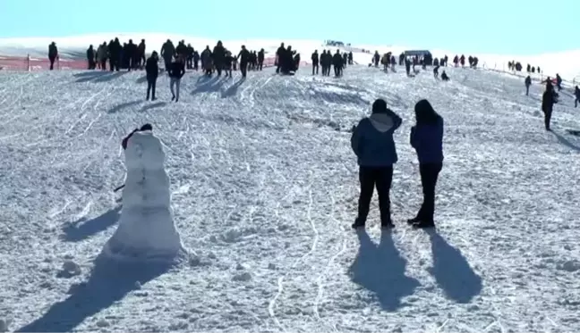
<instances>
[{"instance_id":1,"label":"narrow shadow on snow cast by right person of foreground pair","mask_svg":"<svg viewBox=\"0 0 580 333\"><path fill-rule=\"evenodd\" d=\"M467 259L435 229L425 229L431 240L433 267L428 271L448 298L469 303L482 292L482 278L470 267Z\"/></svg>"}]
</instances>

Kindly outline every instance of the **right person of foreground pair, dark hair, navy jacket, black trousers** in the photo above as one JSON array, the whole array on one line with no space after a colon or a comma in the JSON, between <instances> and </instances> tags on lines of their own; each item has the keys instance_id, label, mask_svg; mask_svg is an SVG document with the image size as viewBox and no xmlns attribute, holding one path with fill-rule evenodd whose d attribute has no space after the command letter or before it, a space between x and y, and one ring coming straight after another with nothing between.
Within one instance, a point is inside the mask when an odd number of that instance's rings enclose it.
<instances>
[{"instance_id":1,"label":"right person of foreground pair, dark hair, navy jacket, black trousers","mask_svg":"<svg viewBox=\"0 0 580 333\"><path fill-rule=\"evenodd\" d=\"M407 222L414 228L431 228L435 226L435 187L443 167L443 118L426 99L417 102L414 111L411 146L419 159L423 202L417 215Z\"/></svg>"}]
</instances>

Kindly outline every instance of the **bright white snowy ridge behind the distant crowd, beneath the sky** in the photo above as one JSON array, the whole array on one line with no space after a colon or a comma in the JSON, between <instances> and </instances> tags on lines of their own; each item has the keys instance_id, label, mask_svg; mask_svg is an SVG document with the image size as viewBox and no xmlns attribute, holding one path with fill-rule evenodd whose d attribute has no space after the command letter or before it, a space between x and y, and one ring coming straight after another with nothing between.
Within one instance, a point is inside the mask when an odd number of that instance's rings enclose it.
<instances>
[{"instance_id":1,"label":"bright white snowy ridge behind the distant crowd, beneath the sky","mask_svg":"<svg viewBox=\"0 0 580 333\"><path fill-rule=\"evenodd\" d=\"M98 46L105 41L109 41L114 37L119 37L122 42L127 42L132 39L135 44L138 44L141 39L145 39L148 49L160 50L167 38L171 38L174 43L179 40L185 40L185 43L191 43L195 48L205 48L205 46L215 46L215 38L192 37L184 35L166 34L166 33L102 33L92 35L81 35L73 37L27 37L27 38L0 38L0 56L25 56L30 54L32 57L45 58L47 57L48 44L55 41L59 47L59 52L66 58L80 58L85 59L86 50L90 44ZM269 54L275 54L277 47L281 42L285 42L286 46L291 45L295 50L302 54L303 61L310 62L310 54L318 49L334 50L335 46L325 46L320 40L304 40L304 39L244 39L244 40L223 40L224 45L231 50L239 50L240 46L245 45L250 50L259 50L264 48ZM355 49L365 49L379 51L381 54L392 52L393 54L400 54L405 50L423 49L422 46L385 46L385 45L353 45ZM350 47L341 47L341 50L349 50ZM455 54L466 54L466 50L444 50L431 49L431 54L436 57L442 57L448 54L449 58L453 58ZM360 64L367 64L371 62L371 55L362 52L354 52L353 59ZM510 54L472 54L478 56L480 59L480 66L507 71L507 62L518 61L524 66L531 63L533 66L541 66L543 72L547 76L554 77L559 73L562 78L576 82L580 80L580 62L577 62L580 56L580 50L573 50L567 52L559 52L553 54L532 54L532 55L510 55ZM451 60L450 59L450 60Z\"/></svg>"}]
</instances>

